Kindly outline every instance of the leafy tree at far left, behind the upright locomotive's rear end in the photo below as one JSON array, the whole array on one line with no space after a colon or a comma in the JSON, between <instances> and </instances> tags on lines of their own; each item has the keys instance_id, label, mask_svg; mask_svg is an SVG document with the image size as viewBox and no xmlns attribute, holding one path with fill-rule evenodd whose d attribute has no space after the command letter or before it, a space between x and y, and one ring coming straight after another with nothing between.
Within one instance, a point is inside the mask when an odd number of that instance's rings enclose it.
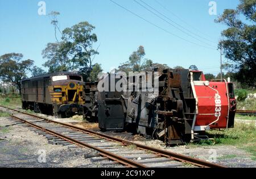
<instances>
[{"instance_id":1,"label":"leafy tree at far left, behind the upright locomotive's rear end","mask_svg":"<svg viewBox=\"0 0 256 179\"><path fill-rule=\"evenodd\" d=\"M21 94L21 80L34 64L32 60L23 60L21 53L7 53L0 56L0 78L3 82L14 85Z\"/></svg>"}]
</instances>

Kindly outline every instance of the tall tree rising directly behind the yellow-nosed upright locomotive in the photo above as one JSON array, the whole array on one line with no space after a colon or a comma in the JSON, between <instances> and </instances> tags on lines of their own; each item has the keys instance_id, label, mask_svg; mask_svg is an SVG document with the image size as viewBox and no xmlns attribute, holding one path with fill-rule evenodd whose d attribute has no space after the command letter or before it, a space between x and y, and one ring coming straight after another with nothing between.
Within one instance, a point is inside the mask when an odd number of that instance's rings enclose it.
<instances>
[{"instance_id":1,"label":"tall tree rising directly behind the yellow-nosed upright locomotive","mask_svg":"<svg viewBox=\"0 0 256 179\"><path fill-rule=\"evenodd\" d=\"M49 14L52 24L55 26L56 43L48 43L42 51L46 63L43 65L49 68L49 73L76 70L88 80L93 69L94 57L98 55L97 49L93 48L97 42L97 35L92 33L94 26L88 22L80 22L71 28L65 28L62 32L59 29L58 12ZM61 34L59 41L56 31Z\"/></svg>"}]
</instances>

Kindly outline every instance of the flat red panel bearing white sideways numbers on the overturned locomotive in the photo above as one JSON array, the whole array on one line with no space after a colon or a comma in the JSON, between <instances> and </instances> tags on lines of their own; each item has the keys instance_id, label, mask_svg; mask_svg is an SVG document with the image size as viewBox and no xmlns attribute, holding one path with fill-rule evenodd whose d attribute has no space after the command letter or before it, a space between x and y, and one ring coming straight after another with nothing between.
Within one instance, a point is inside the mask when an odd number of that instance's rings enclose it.
<instances>
[{"instance_id":1,"label":"flat red panel bearing white sideways numbers on the overturned locomotive","mask_svg":"<svg viewBox=\"0 0 256 179\"><path fill-rule=\"evenodd\" d=\"M226 128L229 98L226 82L195 82L198 115L195 126Z\"/></svg>"}]
</instances>

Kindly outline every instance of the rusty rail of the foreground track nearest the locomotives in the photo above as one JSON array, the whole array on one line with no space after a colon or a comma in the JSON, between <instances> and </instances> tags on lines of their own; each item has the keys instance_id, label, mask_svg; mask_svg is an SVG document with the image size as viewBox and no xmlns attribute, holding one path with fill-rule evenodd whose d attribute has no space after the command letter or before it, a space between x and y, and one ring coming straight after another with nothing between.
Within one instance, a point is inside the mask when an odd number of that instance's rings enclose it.
<instances>
[{"instance_id":1,"label":"rusty rail of the foreground track nearest the locomotives","mask_svg":"<svg viewBox=\"0 0 256 179\"><path fill-rule=\"evenodd\" d=\"M183 162L183 163L189 163L189 164L193 164L193 165L196 165L196 166L199 166L199 167L207 167L207 168L226 168L226 166L209 163L208 161L205 161L205 160L195 159L193 157L181 155L179 153L174 153L174 152L170 152L170 151L159 149L159 148L155 148L155 147L150 147L148 145L138 144L138 143L135 143L133 141L129 141L129 140L125 140L125 139L118 139L118 138L115 138L113 136L101 134L101 133L96 132L96 131L86 130L84 128L73 126L71 124L57 122L55 120L47 119L47 118L44 118L44 117L41 117L41 116L38 116L38 115L34 115L34 114L24 113L23 111L11 109L10 107L5 107L5 106L1 106L1 105L0 105L0 107L4 107L4 108L10 109L10 110L14 110L14 111L16 111L18 113L23 113L23 114L31 115L31 116L34 116L34 117L39 118L39 119L44 119L44 120L47 120L48 122L52 122L52 123L56 123L56 124L61 124L63 126L67 126L67 127L73 128L75 130L79 130L81 132L86 132L86 133L89 133L89 134L100 136L101 138L105 138L105 139L108 139L108 140L116 141L116 142L122 143L124 145L135 145L139 149L143 149L143 150L146 150L146 151L151 151L151 152L154 152L156 155L167 157L167 158L170 158L170 159L173 159L173 160L176 160L176 161L180 161L180 162Z\"/></svg>"}]
</instances>

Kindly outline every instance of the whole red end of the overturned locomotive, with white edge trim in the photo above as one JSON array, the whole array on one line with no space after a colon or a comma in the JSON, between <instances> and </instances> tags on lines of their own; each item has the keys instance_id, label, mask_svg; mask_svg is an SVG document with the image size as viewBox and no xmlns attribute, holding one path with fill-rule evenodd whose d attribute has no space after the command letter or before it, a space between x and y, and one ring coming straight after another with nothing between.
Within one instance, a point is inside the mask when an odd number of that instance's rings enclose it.
<instances>
[{"instance_id":1,"label":"whole red end of the overturned locomotive, with white edge trim","mask_svg":"<svg viewBox=\"0 0 256 179\"><path fill-rule=\"evenodd\" d=\"M200 71L191 71L191 76L193 95L197 103L192 135L195 131L234 127L236 99L233 84L226 80L206 81Z\"/></svg>"}]
</instances>

